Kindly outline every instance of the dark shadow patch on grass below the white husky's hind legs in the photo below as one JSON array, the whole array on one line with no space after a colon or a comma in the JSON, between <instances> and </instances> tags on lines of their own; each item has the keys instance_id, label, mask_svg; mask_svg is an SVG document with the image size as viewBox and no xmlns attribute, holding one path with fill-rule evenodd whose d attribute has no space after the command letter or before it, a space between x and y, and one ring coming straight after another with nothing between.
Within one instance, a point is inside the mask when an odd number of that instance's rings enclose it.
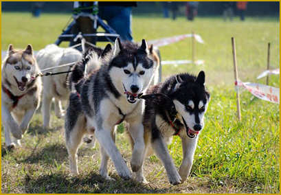
<instances>
[{"instance_id":1,"label":"dark shadow patch on grass below the white husky's hind legs","mask_svg":"<svg viewBox=\"0 0 281 195\"><path fill-rule=\"evenodd\" d=\"M38 149L35 146L32 153L19 162L54 164L54 161L63 163L67 157L67 149L63 144L52 144Z\"/></svg>"}]
</instances>

